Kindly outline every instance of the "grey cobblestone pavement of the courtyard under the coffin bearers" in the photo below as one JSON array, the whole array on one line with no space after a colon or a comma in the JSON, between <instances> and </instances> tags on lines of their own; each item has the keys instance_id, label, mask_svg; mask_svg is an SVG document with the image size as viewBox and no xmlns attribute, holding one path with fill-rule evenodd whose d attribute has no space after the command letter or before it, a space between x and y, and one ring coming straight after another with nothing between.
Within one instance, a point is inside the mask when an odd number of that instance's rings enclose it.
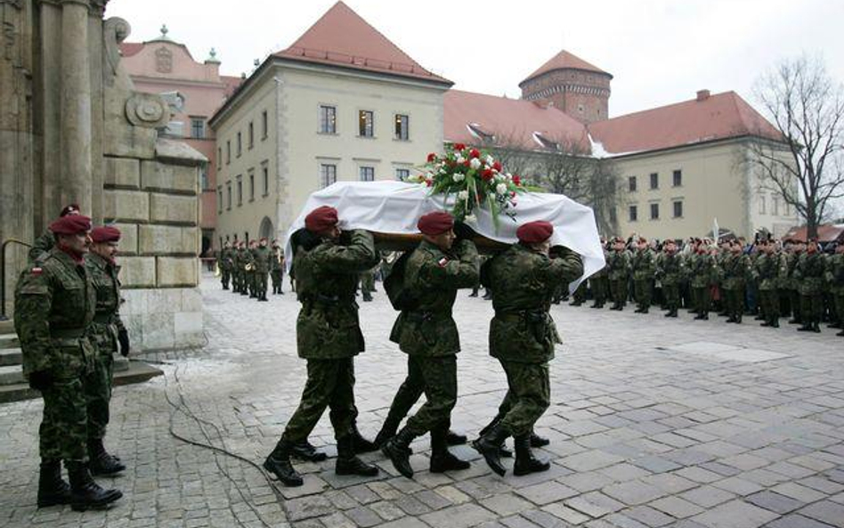
<instances>
[{"instance_id":1,"label":"grey cobblestone pavement of the courtyard under the coffin bearers","mask_svg":"<svg viewBox=\"0 0 844 528\"><path fill-rule=\"evenodd\" d=\"M555 307L565 344L538 428L551 444L537 450L553 460L550 471L499 478L461 446L454 451L470 469L430 474L425 437L413 446L414 480L370 453L377 478L338 477L329 459L296 463L305 484L284 489L241 459L171 435L260 463L303 386L289 292L256 303L210 277L202 288L207 346L147 356L167 361L166 377L115 391L107 445L129 468L101 481L126 497L106 512L38 510L41 402L6 404L0 525L844 527L844 339L832 330ZM456 313L463 352L452 426L474 436L505 379L486 351L491 305L461 292ZM371 437L405 357L388 341L394 312L383 293L361 305L361 321L368 350L356 361L356 394ZM312 442L336 452L327 416Z\"/></svg>"}]
</instances>

